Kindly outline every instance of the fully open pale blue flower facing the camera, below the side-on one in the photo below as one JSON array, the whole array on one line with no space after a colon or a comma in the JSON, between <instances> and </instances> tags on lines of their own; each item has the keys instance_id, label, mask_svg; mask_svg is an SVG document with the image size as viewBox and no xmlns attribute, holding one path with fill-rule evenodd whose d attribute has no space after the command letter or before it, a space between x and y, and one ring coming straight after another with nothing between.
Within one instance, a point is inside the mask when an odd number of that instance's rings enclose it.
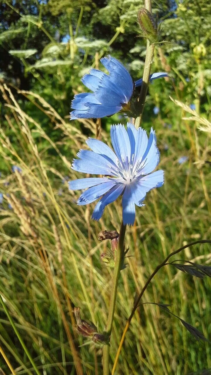
<instances>
[{"instance_id":1,"label":"fully open pale blue flower facing the camera, below the side-on one","mask_svg":"<svg viewBox=\"0 0 211 375\"><path fill-rule=\"evenodd\" d=\"M123 195L123 223L133 225L135 205L143 206L146 193L164 182L163 171L153 172L159 162L155 131L151 128L148 139L146 130L136 129L131 123L127 123L127 130L122 124L112 125L111 141L115 152L104 142L88 138L86 143L92 151L78 151L79 159L72 163L75 171L106 177L69 181L69 189L87 188L78 198L78 205L92 203L101 197L92 214L94 220L101 218L106 205Z\"/></svg>"}]
</instances>

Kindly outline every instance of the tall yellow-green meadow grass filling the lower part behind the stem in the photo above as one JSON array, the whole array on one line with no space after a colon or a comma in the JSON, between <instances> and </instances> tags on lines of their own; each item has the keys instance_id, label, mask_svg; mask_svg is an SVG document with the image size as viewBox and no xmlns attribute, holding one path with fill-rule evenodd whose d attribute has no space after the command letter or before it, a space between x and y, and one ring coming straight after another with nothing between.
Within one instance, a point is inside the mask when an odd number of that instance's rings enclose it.
<instances>
[{"instance_id":1,"label":"tall yellow-green meadow grass filling the lower part behind the stem","mask_svg":"<svg viewBox=\"0 0 211 375\"><path fill-rule=\"evenodd\" d=\"M61 132L61 141L54 144L41 124L21 110L12 93L6 88L2 92L6 103L12 105L7 110L8 127L20 144L10 142L5 136L8 129L1 129L0 154L8 174L4 172L0 180L4 194L0 210L0 293L41 374L76 374L71 345L80 356L84 374L102 374L101 350L78 347L84 339L73 329L71 302L80 306L81 318L104 330L112 270L100 261L109 242L99 242L98 233L102 229L119 230L121 200L109 205L99 222L92 221L94 205L77 206L79 192L68 191L67 182L62 184L65 175L69 179L80 177L71 169L71 159L85 147L87 137L74 122L63 120L53 108L46 107L42 98L31 96L32 102L37 100L42 106L42 116ZM155 267L180 246L211 238L211 172L210 165L204 163L210 152L210 135L197 130L195 123L181 120L184 114L176 105L175 111L179 113L178 123L174 122L172 128L164 127L160 116L152 120L165 183L148 193L146 206L136 210L135 225L127 228L126 245L132 257L127 258L128 265L121 271L111 362L134 296ZM84 120L83 127L95 136L93 121ZM110 142L103 129L101 135L102 140ZM41 147L43 141L45 147ZM63 156L66 150L68 158ZM179 165L178 157L184 154L189 159ZM13 164L22 168L21 174L11 172ZM174 259L209 265L210 253L210 245L195 245ZM210 286L209 278L193 279L166 266L155 276L142 302L171 304L174 314L209 338ZM15 374L35 374L2 308L0 350ZM0 357L0 368L3 374L11 374L5 358ZM205 368L211 368L209 342L197 342L176 318L158 306L140 305L127 332L116 374L185 375Z\"/></svg>"}]
</instances>

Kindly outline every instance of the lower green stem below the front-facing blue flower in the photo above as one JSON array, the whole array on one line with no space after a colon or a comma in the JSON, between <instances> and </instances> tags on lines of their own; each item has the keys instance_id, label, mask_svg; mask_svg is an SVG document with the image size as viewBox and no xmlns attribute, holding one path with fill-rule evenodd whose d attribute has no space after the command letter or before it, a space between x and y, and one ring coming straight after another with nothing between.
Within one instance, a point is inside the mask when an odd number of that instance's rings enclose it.
<instances>
[{"instance_id":1,"label":"lower green stem below the front-facing blue flower","mask_svg":"<svg viewBox=\"0 0 211 375\"><path fill-rule=\"evenodd\" d=\"M112 280L112 293L110 298L110 305L109 305L109 316L107 320L107 325L105 332L110 338L112 332L112 324L113 324L113 316L115 311L115 304L116 304L116 293L118 287L118 280L119 280L119 273L121 270L122 259L124 257L124 250L125 250L125 231L126 225L121 223L121 228L119 232L119 243L118 249L116 251L116 258L115 258L115 267L113 273L113 280ZM104 345L103 347L103 375L109 375L109 345Z\"/></svg>"}]
</instances>

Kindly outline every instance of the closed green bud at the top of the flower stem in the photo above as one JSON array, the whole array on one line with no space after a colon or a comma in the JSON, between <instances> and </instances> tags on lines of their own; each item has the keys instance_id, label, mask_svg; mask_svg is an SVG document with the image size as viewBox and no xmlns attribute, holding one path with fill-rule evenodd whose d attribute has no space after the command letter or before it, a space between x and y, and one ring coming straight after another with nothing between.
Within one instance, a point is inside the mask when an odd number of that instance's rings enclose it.
<instances>
[{"instance_id":1,"label":"closed green bud at the top of the flower stem","mask_svg":"<svg viewBox=\"0 0 211 375\"><path fill-rule=\"evenodd\" d=\"M151 43L157 42L157 22L147 9L140 9L138 12L139 25L142 28L143 37Z\"/></svg>"}]
</instances>

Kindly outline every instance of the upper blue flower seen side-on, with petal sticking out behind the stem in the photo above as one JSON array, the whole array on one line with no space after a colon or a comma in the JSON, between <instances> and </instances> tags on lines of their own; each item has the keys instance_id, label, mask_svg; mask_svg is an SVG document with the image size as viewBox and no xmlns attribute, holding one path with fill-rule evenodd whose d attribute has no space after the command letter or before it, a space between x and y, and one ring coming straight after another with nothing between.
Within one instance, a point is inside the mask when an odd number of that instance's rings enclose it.
<instances>
[{"instance_id":1,"label":"upper blue flower seen side-on, with petal sticking out behind the stem","mask_svg":"<svg viewBox=\"0 0 211 375\"><path fill-rule=\"evenodd\" d=\"M130 73L116 58L101 58L101 63L109 74L90 69L82 78L83 84L93 93L81 93L74 96L70 113L71 120L77 118L99 118L110 116L127 109L133 96L134 87L142 85L142 78L133 83ZM151 74L150 80L167 77L167 73Z\"/></svg>"}]
</instances>

